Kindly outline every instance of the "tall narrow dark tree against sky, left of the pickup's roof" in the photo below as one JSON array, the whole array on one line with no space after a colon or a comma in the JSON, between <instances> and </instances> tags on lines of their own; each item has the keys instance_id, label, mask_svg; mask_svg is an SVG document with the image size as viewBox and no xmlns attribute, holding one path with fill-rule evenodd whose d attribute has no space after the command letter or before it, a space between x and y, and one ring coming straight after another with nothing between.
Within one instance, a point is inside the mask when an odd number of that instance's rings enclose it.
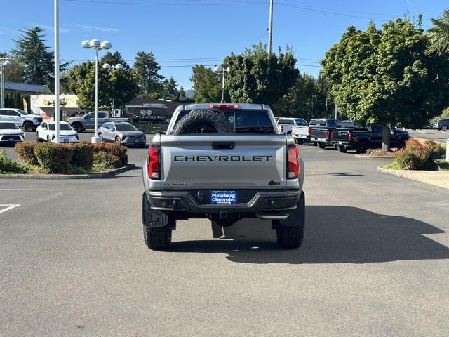
<instances>
[{"instance_id":1,"label":"tall narrow dark tree against sky, left of the pickup's roof","mask_svg":"<svg viewBox=\"0 0 449 337\"><path fill-rule=\"evenodd\" d=\"M161 92L163 76L161 67L154 58L154 53L138 51L135 56L133 76L142 95L154 95Z\"/></svg>"}]
</instances>

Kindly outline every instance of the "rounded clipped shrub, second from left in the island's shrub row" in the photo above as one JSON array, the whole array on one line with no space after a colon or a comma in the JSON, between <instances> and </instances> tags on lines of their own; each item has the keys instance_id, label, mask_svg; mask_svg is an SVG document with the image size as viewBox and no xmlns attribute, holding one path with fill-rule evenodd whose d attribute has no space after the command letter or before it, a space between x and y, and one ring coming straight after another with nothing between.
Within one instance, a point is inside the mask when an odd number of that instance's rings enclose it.
<instances>
[{"instance_id":1,"label":"rounded clipped shrub, second from left in the island's shrub row","mask_svg":"<svg viewBox=\"0 0 449 337\"><path fill-rule=\"evenodd\" d=\"M39 165L48 173L67 173L74 154L72 146L40 143L34 147Z\"/></svg>"}]
</instances>

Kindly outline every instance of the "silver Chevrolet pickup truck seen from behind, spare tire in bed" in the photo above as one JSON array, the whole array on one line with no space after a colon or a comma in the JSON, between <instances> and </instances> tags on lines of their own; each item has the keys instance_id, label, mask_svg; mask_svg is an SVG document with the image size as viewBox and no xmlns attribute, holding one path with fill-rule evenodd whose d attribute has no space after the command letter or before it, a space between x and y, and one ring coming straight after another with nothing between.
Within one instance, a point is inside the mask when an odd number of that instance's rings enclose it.
<instances>
[{"instance_id":1,"label":"silver Chevrolet pickup truck seen from behind, spare tire in bed","mask_svg":"<svg viewBox=\"0 0 449 337\"><path fill-rule=\"evenodd\" d=\"M277 242L304 235L304 163L293 136L257 104L180 105L166 134L150 140L143 169L142 221L149 249L170 246L177 220L272 220Z\"/></svg>"}]
</instances>

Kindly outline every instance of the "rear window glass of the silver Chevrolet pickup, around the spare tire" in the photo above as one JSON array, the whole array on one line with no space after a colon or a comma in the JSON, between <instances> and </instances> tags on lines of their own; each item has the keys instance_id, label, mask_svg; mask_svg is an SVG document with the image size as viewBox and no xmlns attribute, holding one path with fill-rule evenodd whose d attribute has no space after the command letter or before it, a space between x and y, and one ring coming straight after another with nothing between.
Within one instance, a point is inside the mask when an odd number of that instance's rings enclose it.
<instances>
[{"instance_id":1,"label":"rear window glass of the silver Chevrolet pickup, around the spare tire","mask_svg":"<svg viewBox=\"0 0 449 337\"><path fill-rule=\"evenodd\" d=\"M183 110L176 123L192 110ZM276 133L267 110L226 110L225 118L234 126L235 133Z\"/></svg>"}]
</instances>

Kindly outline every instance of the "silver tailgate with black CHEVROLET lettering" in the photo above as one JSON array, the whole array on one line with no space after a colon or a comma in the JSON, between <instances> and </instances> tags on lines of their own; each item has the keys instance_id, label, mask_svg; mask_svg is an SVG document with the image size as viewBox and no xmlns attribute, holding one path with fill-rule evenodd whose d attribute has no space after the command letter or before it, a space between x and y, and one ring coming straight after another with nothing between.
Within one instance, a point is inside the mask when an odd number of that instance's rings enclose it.
<instances>
[{"instance_id":1,"label":"silver tailgate with black CHEVROLET lettering","mask_svg":"<svg viewBox=\"0 0 449 337\"><path fill-rule=\"evenodd\" d=\"M286 187L285 135L161 135L161 189Z\"/></svg>"}]
</instances>

